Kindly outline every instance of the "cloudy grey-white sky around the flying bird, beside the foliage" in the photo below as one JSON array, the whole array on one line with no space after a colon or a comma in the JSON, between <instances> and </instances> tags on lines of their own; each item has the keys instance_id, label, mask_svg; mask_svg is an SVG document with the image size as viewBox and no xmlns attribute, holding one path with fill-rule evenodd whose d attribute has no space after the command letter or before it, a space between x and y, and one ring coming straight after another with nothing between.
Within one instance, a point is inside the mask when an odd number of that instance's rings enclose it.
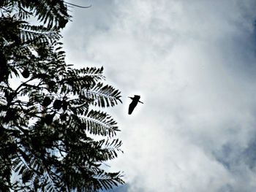
<instances>
[{"instance_id":1,"label":"cloudy grey-white sky around the flying bird, beside the foliage","mask_svg":"<svg viewBox=\"0 0 256 192\"><path fill-rule=\"evenodd\" d=\"M67 63L104 66L122 94L113 191L255 191L256 1L69 2L91 7L70 8Z\"/></svg>"}]
</instances>

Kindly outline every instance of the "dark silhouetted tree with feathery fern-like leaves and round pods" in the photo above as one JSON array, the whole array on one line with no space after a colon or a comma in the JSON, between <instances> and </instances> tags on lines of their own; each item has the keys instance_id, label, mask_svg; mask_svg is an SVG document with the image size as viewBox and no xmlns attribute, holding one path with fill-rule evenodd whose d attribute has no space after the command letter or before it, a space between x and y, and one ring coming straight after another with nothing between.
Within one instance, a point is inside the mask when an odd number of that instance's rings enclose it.
<instances>
[{"instance_id":1,"label":"dark silhouetted tree with feathery fern-like leaves and round pods","mask_svg":"<svg viewBox=\"0 0 256 192\"><path fill-rule=\"evenodd\" d=\"M0 191L123 184L120 172L104 169L121 151L116 121L91 109L115 106L120 91L103 83L103 68L65 63L59 31L71 18L67 4L2 0L0 11Z\"/></svg>"}]
</instances>

